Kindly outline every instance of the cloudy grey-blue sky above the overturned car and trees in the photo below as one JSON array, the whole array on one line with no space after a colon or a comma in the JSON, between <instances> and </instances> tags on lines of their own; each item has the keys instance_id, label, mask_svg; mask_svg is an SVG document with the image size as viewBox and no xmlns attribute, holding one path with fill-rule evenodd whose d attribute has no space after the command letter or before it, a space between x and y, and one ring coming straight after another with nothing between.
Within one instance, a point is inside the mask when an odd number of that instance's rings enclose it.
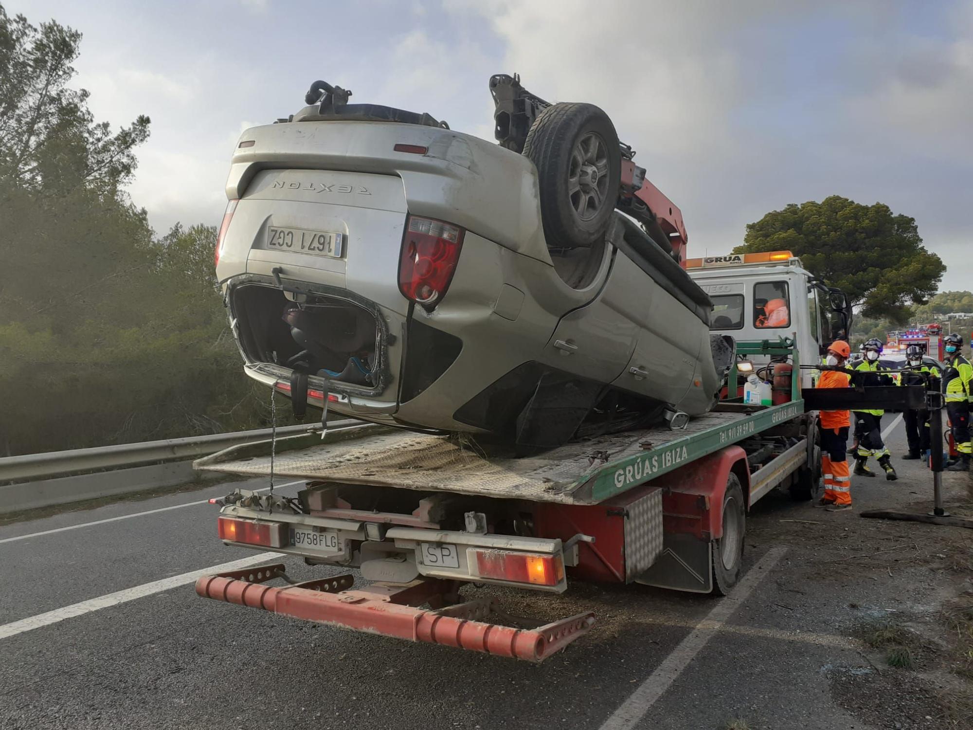
<instances>
[{"instance_id":1,"label":"cloudy grey-blue sky above the overturned car and trees","mask_svg":"<svg viewBox=\"0 0 973 730\"><path fill-rule=\"evenodd\" d=\"M491 137L490 74L590 101L683 210L691 255L788 202L915 217L973 288L973 0L5 0L84 33L98 120L152 118L132 199L217 223L234 141L314 79Z\"/></svg>"}]
</instances>

